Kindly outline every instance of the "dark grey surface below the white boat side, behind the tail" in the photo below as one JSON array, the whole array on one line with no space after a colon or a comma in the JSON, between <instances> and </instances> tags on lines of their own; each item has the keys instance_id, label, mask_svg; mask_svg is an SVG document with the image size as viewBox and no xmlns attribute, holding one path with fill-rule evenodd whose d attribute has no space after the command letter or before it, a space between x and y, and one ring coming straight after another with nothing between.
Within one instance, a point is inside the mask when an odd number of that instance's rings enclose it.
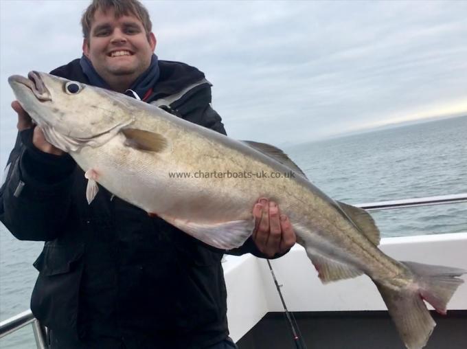
<instances>
[{"instance_id":1,"label":"dark grey surface below the white boat side, behind the tail","mask_svg":"<svg viewBox=\"0 0 467 349\"><path fill-rule=\"evenodd\" d=\"M306 349L405 349L386 311L293 313ZM426 349L466 349L467 311L432 312ZM237 342L240 349L297 349L284 313L267 313Z\"/></svg>"}]
</instances>

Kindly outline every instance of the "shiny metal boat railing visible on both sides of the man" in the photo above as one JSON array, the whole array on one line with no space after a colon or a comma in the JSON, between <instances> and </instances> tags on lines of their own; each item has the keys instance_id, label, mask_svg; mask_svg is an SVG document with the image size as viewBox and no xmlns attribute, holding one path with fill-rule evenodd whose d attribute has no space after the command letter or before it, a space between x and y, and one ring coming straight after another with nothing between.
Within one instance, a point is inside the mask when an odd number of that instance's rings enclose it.
<instances>
[{"instance_id":1,"label":"shiny metal boat railing visible on both sides of the man","mask_svg":"<svg viewBox=\"0 0 467 349\"><path fill-rule=\"evenodd\" d=\"M467 202L467 193L443 196L429 196L418 199L403 199L393 201L380 201L376 203L360 203L354 206L363 208L367 211L390 210L405 207L418 207L428 205L442 205L448 203L463 203ZM46 330L38 320L34 318L31 311L24 311L21 314L10 317L3 322L0 322L0 338L10 335L16 330L32 324L34 338L38 349L47 348L45 344Z\"/></svg>"}]
</instances>

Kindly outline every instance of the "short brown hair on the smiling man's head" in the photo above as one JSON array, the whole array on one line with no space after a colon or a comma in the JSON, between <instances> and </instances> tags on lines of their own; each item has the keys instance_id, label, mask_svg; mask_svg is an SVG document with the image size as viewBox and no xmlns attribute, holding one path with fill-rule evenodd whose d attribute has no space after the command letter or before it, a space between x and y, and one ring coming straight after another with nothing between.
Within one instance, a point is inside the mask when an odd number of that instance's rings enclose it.
<instances>
[{"instance_id":1,"label":"short brown hair on the smiling man's head","mask_svg":"<svg viewBox=\"0 0 467 349\"><path fill-rule=\"evenodd\" d=\"M91 25L94 21L94 14L97 10L106 12L110 8L115 11L115 17L133 15L141 23L143 23L144 30L146 30L146 36L152 30L152 23L149 17L148 10L138 0L93 0L91 5L88 6L81 18L82 35L89 41L91 32Z\"/></svg>"}]
</instances>

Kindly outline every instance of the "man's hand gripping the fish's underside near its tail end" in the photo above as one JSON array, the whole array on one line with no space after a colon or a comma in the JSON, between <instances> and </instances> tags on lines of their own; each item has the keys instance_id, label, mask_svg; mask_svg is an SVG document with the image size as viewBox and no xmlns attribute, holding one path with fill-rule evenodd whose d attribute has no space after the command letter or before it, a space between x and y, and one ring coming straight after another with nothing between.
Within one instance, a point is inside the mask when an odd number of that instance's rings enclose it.
<instances>
[{"instance_id":1,"label":"man's hand gripping the fish's underside near its tail end","mask_svg":"<svg viewBox=\"0 0 467 349\"><path fill-rule=\"evenodd\" d=\"M260 199L253 207L255 230L253 241L266 256L284 254L297 240L288 217L280 214L279 206L274 201Z\"/></svg>"}]
</instances>

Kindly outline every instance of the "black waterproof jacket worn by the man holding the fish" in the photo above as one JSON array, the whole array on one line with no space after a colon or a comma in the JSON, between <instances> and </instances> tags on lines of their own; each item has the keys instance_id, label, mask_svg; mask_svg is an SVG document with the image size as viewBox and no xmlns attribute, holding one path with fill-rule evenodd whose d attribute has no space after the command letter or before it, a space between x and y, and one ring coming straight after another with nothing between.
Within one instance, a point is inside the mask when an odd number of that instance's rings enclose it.
<instances>
[{"instance_id":1,"label":"black waterproof jacket worn by the man holding the fish","mask_svg":"<svg viewBox=\"0 0 467 349\"><path fill-rule=\"evenodd\" d=\"M146 101L225 134L204 74L183 63L159 67ZM89 83L78 60L52 74ZM102 187L88 205L73 159L42 153L31 137L23 131L10 155L0 220L20 240L45 241L34 263L34 315L61 335L119 337L127 348L203 348L227 337L224 251ZM251 240L229 251L247 252L262 256Z\"/></svg>"}]
</instances>

